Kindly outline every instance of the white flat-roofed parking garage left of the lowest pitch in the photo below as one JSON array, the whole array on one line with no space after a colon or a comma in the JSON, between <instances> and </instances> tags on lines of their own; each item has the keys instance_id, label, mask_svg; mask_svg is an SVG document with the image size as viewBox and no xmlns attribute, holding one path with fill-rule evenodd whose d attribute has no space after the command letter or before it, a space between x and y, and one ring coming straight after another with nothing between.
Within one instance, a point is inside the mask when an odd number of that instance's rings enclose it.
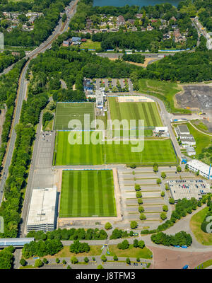
<instances>
[{"instance_id":1,"label":"white flat-roofed parking garage left of the lowest pitch","mask_svg":"<svg viewBox=\"0 0 212 283\"><path fill-rule=\"evenodd\" d=\"M53 231L57 224L57 187L34 189L30 202L27 231Z\"/></svg>"}]
</instances>

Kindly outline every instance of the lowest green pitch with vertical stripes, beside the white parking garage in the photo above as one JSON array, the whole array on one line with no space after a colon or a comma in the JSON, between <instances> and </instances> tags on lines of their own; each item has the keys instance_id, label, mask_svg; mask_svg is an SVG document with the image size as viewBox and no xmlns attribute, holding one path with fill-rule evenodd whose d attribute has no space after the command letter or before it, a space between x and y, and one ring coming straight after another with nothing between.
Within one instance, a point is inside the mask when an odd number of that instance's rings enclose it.
<instances>
[{"instance_id":1,"label":"lowest green pitch with vertical stripes, beside the white parking garage","mask_svg":"<svg viewBox=\"0 0 212 283\"><path fill-rule=\"evenodd\" d=\"M63 171L59 216L117 216L112 170Z\"/></svg>"}]
</instances>

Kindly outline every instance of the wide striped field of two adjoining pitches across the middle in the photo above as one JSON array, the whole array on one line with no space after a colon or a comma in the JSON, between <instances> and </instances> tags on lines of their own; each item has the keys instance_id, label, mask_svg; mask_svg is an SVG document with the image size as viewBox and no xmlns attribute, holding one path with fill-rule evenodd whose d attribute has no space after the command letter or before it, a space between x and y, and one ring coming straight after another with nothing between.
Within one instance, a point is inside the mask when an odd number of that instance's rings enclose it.
<instances>
[{"instance_id":1,"label":"wide striped field of two adjoining pitches across the middle","mask_svg":"<svg viewBox=\"0 0 212 283\"><path fill-rule=\"evenodd\" d=\"M141 152L132 152L136 145L124 144L70 144L69 134L73 132L57 132L54 149L54 165L101 165L105 163L136 163L152 165L176 164L175 151L170 139L144 141L144 149ZM84 139L84 132L78 132ZM90 132L93 134L93 132Z\"/></svg>"}]
</instances>

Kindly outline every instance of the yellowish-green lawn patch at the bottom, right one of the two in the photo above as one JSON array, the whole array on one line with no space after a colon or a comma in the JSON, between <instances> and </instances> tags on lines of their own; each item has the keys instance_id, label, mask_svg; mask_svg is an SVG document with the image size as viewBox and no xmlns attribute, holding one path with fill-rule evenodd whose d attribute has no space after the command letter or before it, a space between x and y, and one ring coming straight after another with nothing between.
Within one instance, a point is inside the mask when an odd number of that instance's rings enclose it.
<instances>
[{"instance_id":1,"label":"yellowish-green lawn patch at the bottom, right one of the two","mask_svg":"<svg viewBox=\"0 0 212 283\"><path fill-rule=\"evenodd\" d=\"M109 246L110 255L117 257L126 257L126 258L146 258L151 259L151 255L153 253L148 248L134 248L133 245L129 245L129 248L126 250L119 250L117 245L110 245Z\"/></svg>"}]
</instances>

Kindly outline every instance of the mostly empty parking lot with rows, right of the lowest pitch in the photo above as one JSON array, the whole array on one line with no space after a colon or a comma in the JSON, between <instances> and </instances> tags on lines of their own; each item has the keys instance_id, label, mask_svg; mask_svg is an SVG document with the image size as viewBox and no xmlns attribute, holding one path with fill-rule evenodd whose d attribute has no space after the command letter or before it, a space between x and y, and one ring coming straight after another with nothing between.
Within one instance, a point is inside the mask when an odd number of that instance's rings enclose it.
<instances>
[{"instance_id":1,"label":"mostly empty parking lot with rows, right of the lowest pitch","mask_svg":"<svg viewBox=\"0 0 212 283\"><path fill-rule=\"evenodd\" d=\"M161 173L166 173L166 178L161 178ZM139 229L143 226L149 226L149 229L155 229L163 221L160 219L160 214L163 212L163 205L167 205L167 219L169 219L172 212L172 207L169 204L169 198L172 197L170 191L165 190L165 184L167 181L180 182L186 180L189 183L191 180L196 179L196 176L190 172L177 173L176 167L159 167L158 173L153 172L151 167L143 168L119 168L119 187L122 195L122 213L123 220L126 221L137 221ZM157 179L162 180L161 185L156 183ZM135 184L141 186L141 200L143 201L142 207L146 220L140 221L139 216L139 204L138 198L136 198ZM161 192L165 192L165 197L161 197Z\"/></svg>"}]
</instances>

